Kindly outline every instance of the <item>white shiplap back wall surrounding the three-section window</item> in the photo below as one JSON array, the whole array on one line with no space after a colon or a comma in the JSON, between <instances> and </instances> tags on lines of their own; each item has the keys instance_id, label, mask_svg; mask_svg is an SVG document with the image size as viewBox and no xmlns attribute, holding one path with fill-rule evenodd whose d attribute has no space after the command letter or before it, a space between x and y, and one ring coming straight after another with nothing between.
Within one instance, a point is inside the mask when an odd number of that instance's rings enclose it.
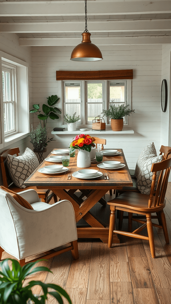
<instances>
[{"instance_id":1,"label":"white shiplap back wall surrounding the three-section window","mask_svg":"<svg viewBox=\"0 0 171 304\"><path fill-rule=\"evenodd\" d=\"M33 47L33 103L40 103L42 106L47 101L46 97L52 94L61 97L55 78L58 70L133 69L134 134L111 136L102 133L101 138L106 138L108 148L122 148L129 168L135 168L139 154L148 143L153 141L157 151L162 144L160 139L162 45L117 45L99 48L104 58L102 61L73 62L70 60L73 47ZM37 122L38 120L35 119L36 124ZM51 122L49 120L47 123L50 132L55 126L60 125L60 119ZM55 135L56 141L48 143L47 153L54 147L68 147L72 138L73 135Z\"/></svg>"}]
</instances>

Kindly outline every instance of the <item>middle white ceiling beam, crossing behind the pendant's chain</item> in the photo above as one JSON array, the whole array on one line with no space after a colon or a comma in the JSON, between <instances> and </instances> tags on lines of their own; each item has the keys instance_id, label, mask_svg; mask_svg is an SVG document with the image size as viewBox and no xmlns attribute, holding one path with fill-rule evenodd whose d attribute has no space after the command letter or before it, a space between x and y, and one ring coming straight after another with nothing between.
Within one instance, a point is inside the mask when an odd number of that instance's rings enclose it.
<instances>
[{"instance_id":1,"label":"middle white ceiling beam, crossing behind the pendant's chain","mask_svg":"<svg viewBox=\"0 0 171 304\"><path fill-rule=\"evenodd\" d=\"M85 21L81 22L22 22L0 23L0 33L82 33ZM88 21L90 32L140 32L170 31L170 19L129 21Z\"/></svg>"}]
</instances>

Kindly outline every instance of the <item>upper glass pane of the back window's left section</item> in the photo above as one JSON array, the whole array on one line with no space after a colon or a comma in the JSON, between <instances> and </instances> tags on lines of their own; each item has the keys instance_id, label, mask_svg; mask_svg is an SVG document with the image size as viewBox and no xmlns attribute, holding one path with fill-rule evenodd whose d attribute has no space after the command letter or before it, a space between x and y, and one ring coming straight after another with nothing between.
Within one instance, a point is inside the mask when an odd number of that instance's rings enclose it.
<instances>
[{"instance_id":1,"label":"upper glass pane of the back window's left section","mask_svg":"<svg viewBox=\"0 0 171 304\"><path fill-rule=\"evenodd\" d=\"M65 84L65 102L80 102L80 84Z\"/></svg>"}]
</instances>

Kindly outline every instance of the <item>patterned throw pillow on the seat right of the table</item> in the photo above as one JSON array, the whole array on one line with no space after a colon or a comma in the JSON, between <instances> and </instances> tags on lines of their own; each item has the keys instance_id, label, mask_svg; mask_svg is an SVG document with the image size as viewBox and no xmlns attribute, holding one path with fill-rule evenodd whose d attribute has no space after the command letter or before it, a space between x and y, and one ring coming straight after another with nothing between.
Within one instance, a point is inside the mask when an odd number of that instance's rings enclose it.
<instances>
[{"instance_id":1,"label":"patterned throw pillow on the seat right of the table","mask_svg":"<svg viewBox=\"0 0 171 304\"><path fill-rule=\"evenodd\" d=\"M135 176L137 178L137 188L143 194L150 194L150 188L152 184L152 175L151 167L153 163L158 163L162 161L162 155L157 156L154 143L150 143L144 150L141 152L138 157L138 161L135 168ZM156 176L157 185L159 178L159 172Z\"/></svg>"}]
</instances>

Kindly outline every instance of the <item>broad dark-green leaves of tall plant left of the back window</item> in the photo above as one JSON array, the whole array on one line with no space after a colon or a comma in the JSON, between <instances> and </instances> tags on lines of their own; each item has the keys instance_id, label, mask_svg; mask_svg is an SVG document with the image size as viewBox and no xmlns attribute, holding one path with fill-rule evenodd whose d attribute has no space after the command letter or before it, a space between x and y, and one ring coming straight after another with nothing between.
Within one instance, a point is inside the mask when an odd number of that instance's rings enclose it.
<instances>
[{"instance_id":1,"label":"broad dark-green leaves of tall plant left of the back window","mask_svg":"<svg viewBox=\"0 0 171 304\"><path fill-rule=\"evenodd\" d=\"M35 104L33 105L33 109L30 110L30 113L36 113L39 112L39 114L36 114L38 119L40 119L43 121L43 126L44 128L46 128L46 123L47 123L47 119L48 117L50 117L51 119L59 119L59 116L56 113L61 114L61 111L54 107L53 105L55 105L58 102L59 98L57 95L51 95L49 97L47 97L47 103L48 105L43 104L42 105L42 111L44 112L44 114L40 114L41 110L39 104Z\"/></svg>"}]
</instances>

